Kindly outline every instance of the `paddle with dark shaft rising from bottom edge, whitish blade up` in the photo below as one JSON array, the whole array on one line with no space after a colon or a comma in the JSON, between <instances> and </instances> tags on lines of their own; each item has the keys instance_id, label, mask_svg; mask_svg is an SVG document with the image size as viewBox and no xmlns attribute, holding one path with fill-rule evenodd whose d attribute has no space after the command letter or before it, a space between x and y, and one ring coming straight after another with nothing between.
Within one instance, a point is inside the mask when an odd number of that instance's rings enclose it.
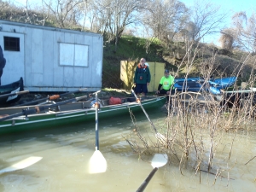
<instances>
[{"instance_id":1,"label":"paddle with dark shaft rising from bottom edge, whitish blade up","mask_svg":"<svg viewBox=\"0 0 256 192\"><path fill-rule=\"evenodd\" d=\"M142 192L147 187L149 181L154 176L154 173L157 172L158 168L161 166L165 166L167 162L168 162L167 154L154 154L153 160L151 161L151 166L153 166L154 169L149 173L148 177L137 189L137 192Z\"/></svg>"}]
</instances>

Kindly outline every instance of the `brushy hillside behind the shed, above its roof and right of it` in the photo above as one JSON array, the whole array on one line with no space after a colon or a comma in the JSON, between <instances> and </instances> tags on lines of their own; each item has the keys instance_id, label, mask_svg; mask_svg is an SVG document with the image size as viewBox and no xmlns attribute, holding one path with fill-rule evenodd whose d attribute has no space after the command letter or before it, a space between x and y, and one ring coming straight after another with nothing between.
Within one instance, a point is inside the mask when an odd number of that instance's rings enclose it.
<instances>
[{"instance_id":1,"label":"brushy hillside behind the shed, above its roof and right of it","mask_svg":"<svg viewBox=\"0 0 256 192\"><path fill-rule=\"evenodd\" d=\"M66 22L65 26L61 26L61 23L56 20L52 13L49 13L46 19L41 9L25 11L13 3L0 1L0 4L1 20L82 30L81 26L71 21ZM83 30L86 31L85 28ZM116 48L113 42L108 42L105 39L103 44L102 88L121 89L123 83L120 80L120 61L138 63L141 57L145 57L147 61L165 63L165 67L170 69L173 74L177 73L178 77L184 75L192 77L236 75L239 82L249 79L256 61L255 55L248 56L246 52L239 49L230 52L227 49L219 49L214 44L195 43L188 49L189 44L172 42L166 48L158 40L148 42L145 38L123 35Z\"/></svg>"}]
</instances>

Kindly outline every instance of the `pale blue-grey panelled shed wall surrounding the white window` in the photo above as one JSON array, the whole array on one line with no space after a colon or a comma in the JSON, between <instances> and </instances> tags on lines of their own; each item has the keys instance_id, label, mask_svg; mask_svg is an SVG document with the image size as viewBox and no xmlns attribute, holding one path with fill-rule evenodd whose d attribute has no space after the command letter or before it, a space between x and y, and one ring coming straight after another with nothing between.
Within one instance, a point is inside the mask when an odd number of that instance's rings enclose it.
<instances>
[{"instance_id":1,"label":"pale blue-grey panelled shed wall surrounding the white window","mask_svg":"<svg viewBox=\"0 0 256 192\"><path fill-rule=\"evenodd\" d=\"M90 32L77 32L47 26L0 20L3 31L24 34L23 55L17 63L24 65L25 89L30 91L71 91L87 87L94 91L102 86L102 36ZM88 67L62 67L59 65L59 43L89 46ZM21 43L20 43L21 44ZM10 57L10 56L9 56ZM4 68L5 69L5 68ZM9 69L6 71L13 70ZM15 70L16 72L22 70ZM16 79L12 79L11 82ZM20 78L20 77L19 77Z\"/></svg>"}]
</instances>

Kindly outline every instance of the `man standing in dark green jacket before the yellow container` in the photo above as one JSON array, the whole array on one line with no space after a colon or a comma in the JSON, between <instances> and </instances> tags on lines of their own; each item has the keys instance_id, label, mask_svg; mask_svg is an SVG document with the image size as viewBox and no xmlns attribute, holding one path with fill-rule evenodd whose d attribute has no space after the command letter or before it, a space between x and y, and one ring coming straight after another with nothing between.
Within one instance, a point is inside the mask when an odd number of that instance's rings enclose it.
<instances>
[{"instance_id":1,"label":"man standing in dark green jacket before the yellow container","mask_svg":"<svg viewBox=\"0 0 256 192\"><path fill-rule=\"evenodd\" d=\"M145 65L145 58L140 60L140 63L137 65L135 74L134 74L134 84L136 85L135 93L137 96L141 93L142 96L145 96L148 93L148 84L151 80L151 75L149 67Z\"/></svg>"}]
</instances>

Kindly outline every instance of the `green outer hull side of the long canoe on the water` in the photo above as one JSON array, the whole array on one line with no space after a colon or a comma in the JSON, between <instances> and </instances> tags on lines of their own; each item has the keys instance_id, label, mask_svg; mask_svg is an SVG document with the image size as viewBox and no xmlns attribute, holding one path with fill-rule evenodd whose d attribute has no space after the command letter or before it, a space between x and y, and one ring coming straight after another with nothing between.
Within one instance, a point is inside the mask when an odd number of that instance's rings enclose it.
<instances>
[{"instance_id":1,"label":"green outer hull side of the long canoe on the water","mask_svg":"<svg viewBox=\"0 0 256 192\"><path fill-rule=\"evenodd\" d=\"M160 108L166 102L166 96L155 97L154 99L148 99L142 102L145 110L152 108ZM79 103L75 103L79 105ZM83 105L80 103L80 105ZM61 108L72 108L73 103L61 106ZM31 107L30 107L31 108ZM119 115L126 115L130 118L129 110L132 113L143 112L142 108L137 102L125 102L124 104L106 106L100 108L98 111L99 120L106 118L116 118ZM2 110L3 113L3 110ZM8 119L0 122L0 133L8 133L15 131L28 131L32 129L56 127L63 125L75 125L83 122L93 122L95 120L94 108L80 108L74 110L66 110L61 112L47 112L28 115L26 118L24 115L19 118Z\"/></svg>"}]
</instances>

